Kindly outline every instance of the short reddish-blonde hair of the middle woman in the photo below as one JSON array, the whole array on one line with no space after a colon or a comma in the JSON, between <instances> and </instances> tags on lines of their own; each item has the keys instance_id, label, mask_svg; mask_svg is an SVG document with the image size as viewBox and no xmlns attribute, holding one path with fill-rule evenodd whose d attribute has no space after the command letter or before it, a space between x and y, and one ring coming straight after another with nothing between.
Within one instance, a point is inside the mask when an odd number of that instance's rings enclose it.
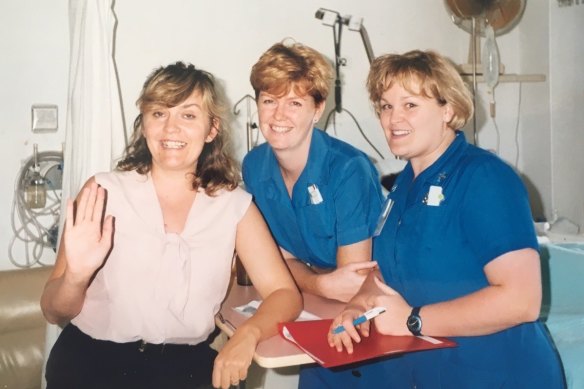
<instances>
[{"instance_id":1,"label":"short reddish-blonde hair of the middle woman","mask_svg":"<svg viewBox=\"0 0 584 389\"><path fill-rule=\"evenodd\" d=\"M301 43L276 43L251 69L250 82L256 99L260 92L284 96L294 86L298 95L309 95L315 104L329 94L333 70L318 51Z\"/></svg>"}]
</instances>

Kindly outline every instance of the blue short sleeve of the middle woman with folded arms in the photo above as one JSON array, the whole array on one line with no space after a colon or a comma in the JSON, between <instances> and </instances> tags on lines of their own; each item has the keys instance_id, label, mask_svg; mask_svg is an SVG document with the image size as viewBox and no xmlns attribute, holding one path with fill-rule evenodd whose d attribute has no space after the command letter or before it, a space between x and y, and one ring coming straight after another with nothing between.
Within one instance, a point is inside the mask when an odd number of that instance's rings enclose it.
<instances>
[{"instance_id":1,"label":"blue short sleeve of the middle woman with folded arms","mask_svg":"<svg viewBox=\"0 0 584 389\"><path fill-rule=\"evenodd\" d=\"M368 160L352 158L335 178L337 239L341 246L357 243L373 235L381 212L379 175Z\"/></svg>"}]
</instances>

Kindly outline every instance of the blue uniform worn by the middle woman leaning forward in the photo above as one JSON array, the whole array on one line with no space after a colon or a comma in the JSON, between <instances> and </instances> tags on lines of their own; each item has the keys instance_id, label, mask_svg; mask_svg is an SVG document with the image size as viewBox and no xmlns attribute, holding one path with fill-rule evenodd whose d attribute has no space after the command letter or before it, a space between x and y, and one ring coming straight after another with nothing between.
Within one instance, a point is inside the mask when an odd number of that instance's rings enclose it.
<instances>
[{"instance_id":1,"label":"blue uniform worn by the middle woman leaning forward","mask_svg":"<svg viewBox=\"0 0 584 389\"><path fill-rule=\"evenodd\" d=\"M383 201L377 170L363 152L319 129L312 133L308 161L291 198L269 144L251 150L242 170L278 245L307 264L335 268L339 246L373 235ZM299 387L375 387L368 379L378 376L369 373L373 368L305 366Z\"/></svg>"}]
</instances>

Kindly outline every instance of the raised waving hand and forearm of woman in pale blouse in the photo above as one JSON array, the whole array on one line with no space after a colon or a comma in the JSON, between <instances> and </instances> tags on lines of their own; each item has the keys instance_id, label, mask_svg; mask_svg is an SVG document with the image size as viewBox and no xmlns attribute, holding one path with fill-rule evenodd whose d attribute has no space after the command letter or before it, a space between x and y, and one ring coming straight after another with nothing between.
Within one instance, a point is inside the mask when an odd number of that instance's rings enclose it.
<instances>
[{"instance_id":1,"label":"raised waving hand and forearm of woman in pale blouse","mask_svg":"<svg viewBox=\"0 0 584 389\"><path fill-rule=\"evenodd\" d=\"M105 190L91 178L75 203L67 202L57 260L41 296L50 323L65 324L79 314L85 292L111 249L113 218L103 218L105 198Z\"/></svg>"}]
</instances>

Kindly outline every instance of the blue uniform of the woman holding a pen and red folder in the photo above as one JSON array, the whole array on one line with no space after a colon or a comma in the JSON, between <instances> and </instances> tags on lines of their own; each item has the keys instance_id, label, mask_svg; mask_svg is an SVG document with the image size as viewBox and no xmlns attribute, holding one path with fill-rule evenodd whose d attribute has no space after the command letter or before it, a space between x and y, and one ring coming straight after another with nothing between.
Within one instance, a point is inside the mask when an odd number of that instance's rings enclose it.
<instances>
[{"instance_id":1,"label":"blue uniform of the woman holding a pen and red folder","mask_svg":"<svg viewBox=\"0 0 584 389\"><path fill-rule=\"evenodd\" d=\"M394 204L373 258L411 306L476 292L489 284L483 268L491 260L538 248L520 178L496 155L467 144L462 132L415 179L408 164L389 197ZM561 362L539 321L453 339L456 348L385 360L378 387L564 387Z\"/></svg>"}]
</instances>

